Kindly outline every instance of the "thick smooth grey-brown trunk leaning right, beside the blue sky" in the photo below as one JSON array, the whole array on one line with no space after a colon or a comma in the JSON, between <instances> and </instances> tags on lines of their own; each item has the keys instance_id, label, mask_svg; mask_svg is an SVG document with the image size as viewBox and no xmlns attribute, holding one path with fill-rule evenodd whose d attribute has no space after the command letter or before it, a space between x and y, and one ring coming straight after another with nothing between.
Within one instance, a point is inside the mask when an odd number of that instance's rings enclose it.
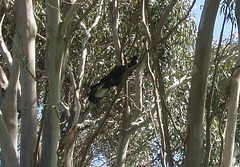
<instances>
[{"instance_id":1,"label":"thick smooth grey-brown trunk leaning right, beside the blue sky","mask_svg":"<svg viewBox=\"0 0 240 167\"><path fill-rule=\"evenodd\" d=\"M211 44L219 0L206 0L199 25L188 109L186 167L198 167L203 154L203 113Z\"/></svg>"}]
</instances>

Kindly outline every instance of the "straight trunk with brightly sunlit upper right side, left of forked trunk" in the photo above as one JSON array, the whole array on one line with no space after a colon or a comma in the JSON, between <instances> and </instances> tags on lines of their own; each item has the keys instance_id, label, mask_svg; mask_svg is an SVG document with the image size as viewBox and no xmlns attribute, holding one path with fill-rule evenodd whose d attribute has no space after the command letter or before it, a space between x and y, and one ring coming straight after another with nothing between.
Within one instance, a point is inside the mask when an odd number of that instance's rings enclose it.
<instances>
[{"instance_id":1,"label":"straight trunk with brightly sunlit upper right side, left of forked trunk","mask_svg":"<svg viewBox=\"0 0 240 167\"><path fill-rule=\"evenodd\" d=\"M37 137L37 99L35 82L36 23L31 0L16 1L16 37L21 71L21 166L34 166Z\"/></svg>"}]
</instances>

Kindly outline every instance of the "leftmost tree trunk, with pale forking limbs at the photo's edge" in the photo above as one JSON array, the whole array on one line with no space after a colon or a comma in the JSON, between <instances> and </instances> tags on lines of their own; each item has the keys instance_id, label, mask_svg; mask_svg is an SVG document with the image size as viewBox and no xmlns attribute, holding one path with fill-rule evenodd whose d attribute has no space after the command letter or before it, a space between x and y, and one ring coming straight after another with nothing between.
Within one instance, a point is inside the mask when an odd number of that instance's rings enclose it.
<instances>
[{"instance_id":1,"label":"leftmost tree trunk, with pale forking limbs at the photo's edge","mask_svg":"<svg viewBox=\"0 0 240 167\"><path fill-rule=\"evenodd\" d=\"M4 16L1 18L0 28L2 29ZM1 68L1 94L0 94L0 147L3 155L1 165L19 166L17 159L17 90L19 79L19 63L16 55L18 39L14 38L13 57L7 50L0 30L1 52L7 61L10 78L7 81L4 71Z\"/></svg>"}]
</instances>

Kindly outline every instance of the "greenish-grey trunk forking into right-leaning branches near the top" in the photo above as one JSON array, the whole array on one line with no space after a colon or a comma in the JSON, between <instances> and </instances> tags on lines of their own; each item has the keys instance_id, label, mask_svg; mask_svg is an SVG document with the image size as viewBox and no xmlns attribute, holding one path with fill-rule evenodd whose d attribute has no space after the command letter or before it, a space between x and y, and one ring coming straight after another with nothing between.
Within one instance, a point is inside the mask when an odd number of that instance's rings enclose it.
<instances>
[{"instance_id":1,"label":"greenish-grey trunk forking into right-leaning branches near the top","mask_svg":"<svg viewBox=\"0 0 240 167\"><path fill-rule=\"evenodd\" d=\"M73 1L71 1L73 3ZM98 0L86 9L85 13L74 23L72 18L78 10L80 0L75 1L65 11L63 22L60 24L60 1L46 1L46 76L47 76L47 100L43 112L43 136L40 166L58 165L58 142L60 133L60 95L64 78L64 69L68 56L68 43L73 32L79 28L80 22L96 6Z\"/></svg>"}]
</instances>

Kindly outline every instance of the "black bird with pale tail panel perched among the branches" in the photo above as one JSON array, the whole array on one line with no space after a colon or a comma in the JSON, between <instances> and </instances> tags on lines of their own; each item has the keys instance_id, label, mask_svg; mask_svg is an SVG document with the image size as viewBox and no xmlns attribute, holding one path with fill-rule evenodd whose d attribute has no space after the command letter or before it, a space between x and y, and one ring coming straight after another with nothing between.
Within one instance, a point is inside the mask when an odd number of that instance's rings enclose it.
<instances>
[{"instance_id":1,"label":"black bird with pale tail panel perched among the branches","mask_svg":"<svg viewBox=\"0 0 240 167\"><path fill-rule=\"evenodd\" d=\"M130 60L130 63L127 64L128 68L131 68L137 64L138 57L133 56ZM123 80L125 71L126 66L118 66L114 68L108 75L103 77L100 82L91 86L90 92L88 93L89 101L96 104L103 96L107 94L111 87L119 86Z\"/></svg>"}]
</instances>

